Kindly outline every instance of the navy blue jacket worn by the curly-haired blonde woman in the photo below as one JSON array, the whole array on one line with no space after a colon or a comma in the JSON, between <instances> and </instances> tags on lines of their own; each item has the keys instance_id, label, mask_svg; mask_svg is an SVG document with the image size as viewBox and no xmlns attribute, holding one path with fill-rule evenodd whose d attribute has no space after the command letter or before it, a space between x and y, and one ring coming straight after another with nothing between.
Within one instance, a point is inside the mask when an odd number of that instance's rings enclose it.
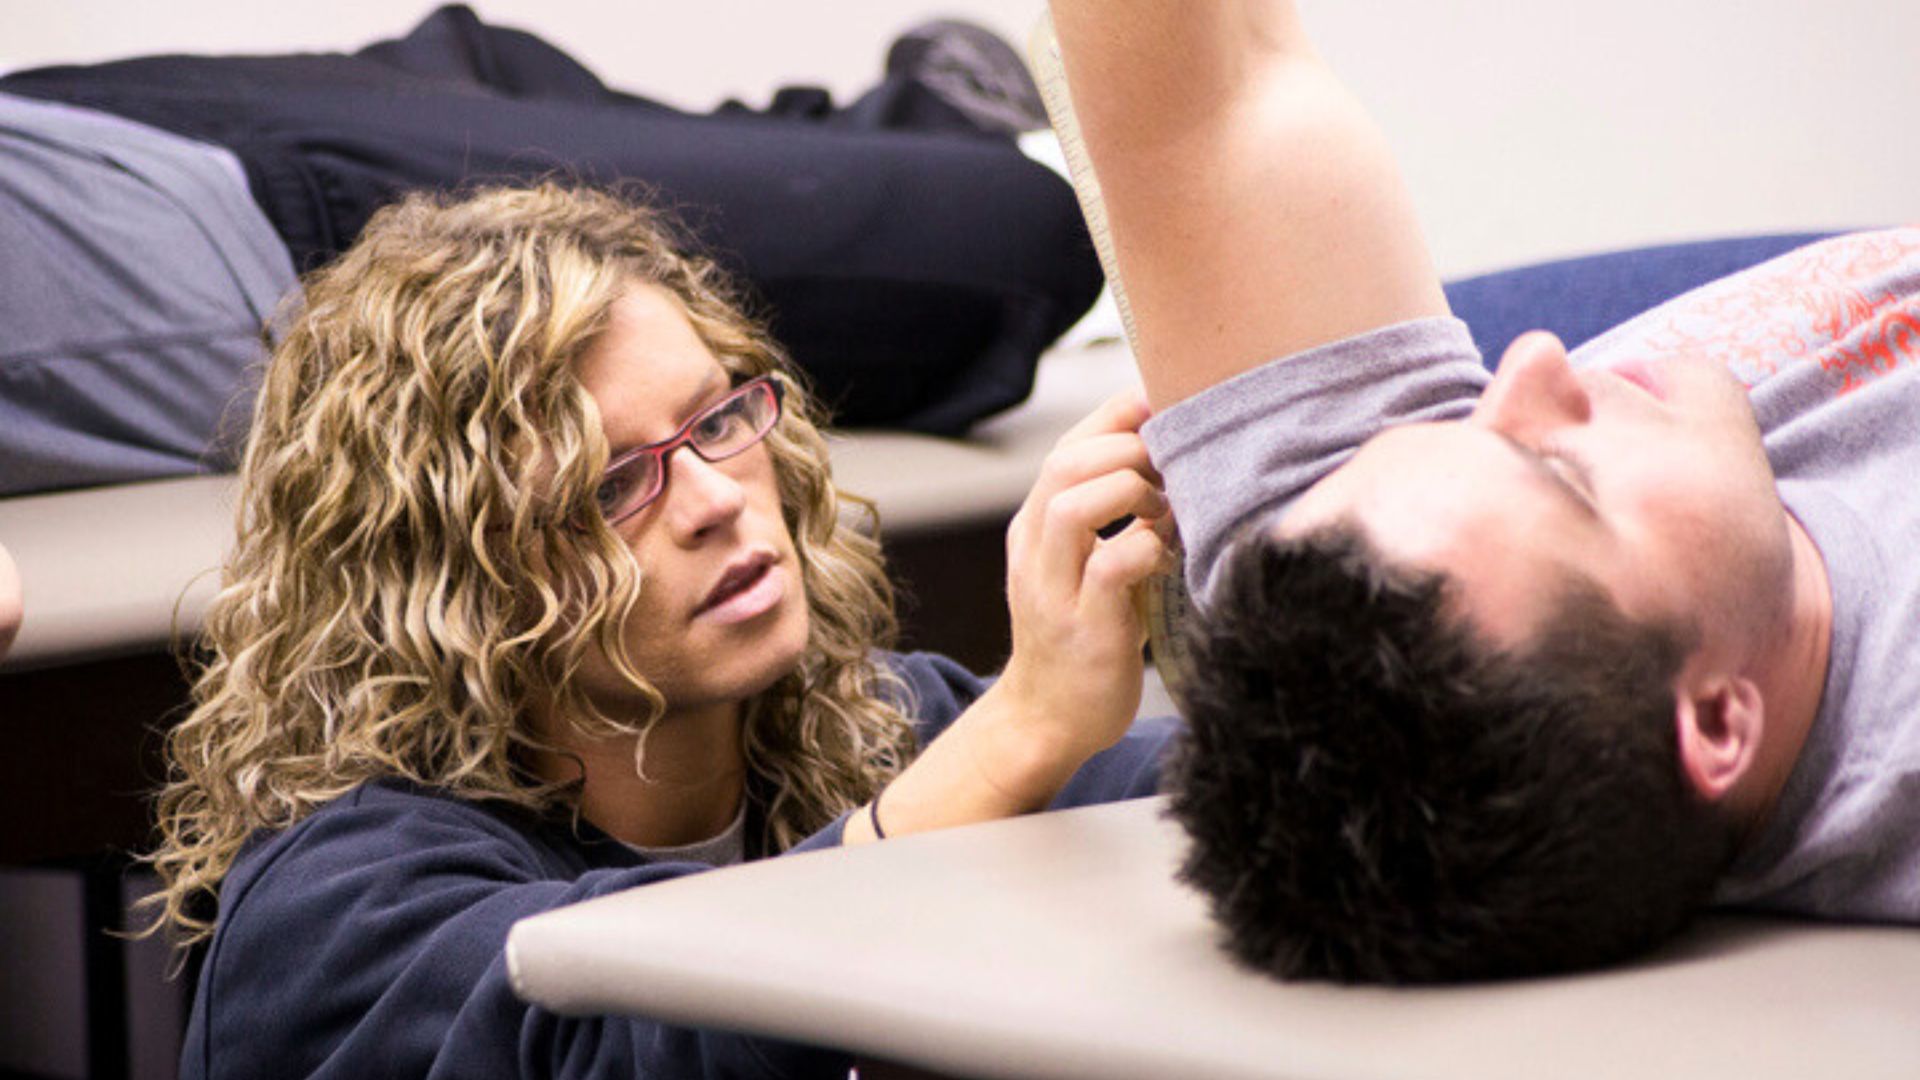
<instances>
[{"instance_id":1,"label":"navy blue jacket worn by the curly-haired blonde woman","mask_svg":"<svg viewBox=\"0 0 1920 1080\"><path fill-rule=\"evenodd\" d=\"M895 657L922 742L985 682ZM1171 721L1137 724L1056 805L1146 796ZM843 821L799 849L839 844ZM833 1076L849 1057L616 1017L559 1017L513 995L503 945L522 917L707 867L649 863L591 826L367 784L255 838L221 886L182 1080ZM774 899L770 899L774 903Z\"/></svg>"}]
</instances>

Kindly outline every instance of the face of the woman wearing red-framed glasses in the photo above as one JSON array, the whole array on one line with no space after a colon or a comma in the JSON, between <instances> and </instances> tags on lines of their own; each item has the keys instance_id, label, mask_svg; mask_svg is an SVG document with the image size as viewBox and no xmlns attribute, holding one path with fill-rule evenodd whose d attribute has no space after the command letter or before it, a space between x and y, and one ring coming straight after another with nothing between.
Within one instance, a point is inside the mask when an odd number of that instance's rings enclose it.
<instances>
[{"instance_id":1,"label":"face of the woman wearing red-framed glasses","mask_svg":"<svg viewBox=\"0 0 1920 1080\"><path fill-rule=\"evenodd\" d=\"M611 457L670 438L733 388L680 300L639 282L574 373L599 409ZM806 586L774 459L766 442L724 461L682 446L664 465L659 498L612 527L641 571L628 657L666 696L668 717L732 709L793 671L806 648ZM582 678L614 717L637 701L611 663Z\"/></svg>"}]
</instances>

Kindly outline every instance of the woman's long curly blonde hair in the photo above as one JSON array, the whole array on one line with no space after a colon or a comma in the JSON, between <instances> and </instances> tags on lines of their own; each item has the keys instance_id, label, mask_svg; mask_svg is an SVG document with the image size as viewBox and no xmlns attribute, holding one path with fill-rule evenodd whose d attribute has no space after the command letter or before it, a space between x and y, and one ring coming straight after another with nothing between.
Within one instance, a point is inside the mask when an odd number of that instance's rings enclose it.
<instances>
[{"instance_id":1,"label":"woman's long curly blonde hair","mask_svg":"<svg viewBox=\"0 0 1920 1080\"><path fill-rule=\"evenodd\" d=\"M415 194L305 281L240 467L238 542L205 619L194 709L167 740L156 926L211 934L207 901L248 836L397 776L549 813L576 784L526 761L528 713L639 734L664 701L624 659L643 601L630 548L591 511L609 446L572 361L634 284L674 294L735 379L785 359L664 217L541 184ZM780 851L860 805L912 755L877 542L843 513L814 405L768 436L806 586L799 667L747 703L749 798ZM597 709L593 655L653 703Z\"/></svg>"}]
</instances>

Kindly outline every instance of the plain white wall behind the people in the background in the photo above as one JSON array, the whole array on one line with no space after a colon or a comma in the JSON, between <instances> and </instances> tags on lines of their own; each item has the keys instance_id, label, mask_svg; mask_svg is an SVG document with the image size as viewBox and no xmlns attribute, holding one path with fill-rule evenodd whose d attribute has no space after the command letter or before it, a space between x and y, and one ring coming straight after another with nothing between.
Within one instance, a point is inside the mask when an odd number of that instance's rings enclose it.
<instances>
[{"instance_id":1,"label":"plain white wall behind the people in the background","mask_svg":"<svg viewBox=\"0 0 1920 1080\"><path fill-rule=\"evenodd\" d=\"M1198 0L1194 0L1198 2ZM1039 0L476 0L622 88L849 96L935 15ZM426 0L0 0L0 60L351 48ZM1396 140L1448 273L1728 233L1920 221L1914 0L1302 0Z\"/></svg>"}]
</instances>

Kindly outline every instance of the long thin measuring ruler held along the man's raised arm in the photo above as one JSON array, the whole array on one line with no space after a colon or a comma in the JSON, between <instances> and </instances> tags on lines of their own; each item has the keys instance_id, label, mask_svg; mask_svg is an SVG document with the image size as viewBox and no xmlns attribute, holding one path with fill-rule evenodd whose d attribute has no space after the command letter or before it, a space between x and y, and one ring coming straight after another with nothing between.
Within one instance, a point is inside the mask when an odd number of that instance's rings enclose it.
<instances>
[{"instance_id":1,"label":"long thin measuring ruler held along the man's raised arm","mask_svg":"<svg viewBox=\"0 0 1920 1080\"><path fill-rule=\"evenodd\" d=\"M1114 307L1119 311L1119 325L1127 332L1127 346L1140 348L1140 338L1133 329L1133 306L1127 304L1127 290L1119 282L1119 259L1114 256L1114 231L1106 221L1106 200L1100 196L1100 177L1094 175L1092 158L1087 156L1087 140L1081 136L1079 117L1073 113L1073 96L1068 90L1068 69L1060 61L1060 38L1054 35L1052 12L1043 12L1033 35L1027 38L1027 61L1033 65L1033 81L1041 88L1041 102L1046 104L1046 119L1060 136L1060 154L1068 161L1068 177L1073 181L1073 194L1079 198L1081 215L1087 219L1087 233L1092 234L1092 250L1100 256L1100 269L1106 271L1106 286L1114 294ZM1192 596L1187 592L1187 561L1179 540L1173 542L1173 569L1140 582L1133 594L1133 607L1146 625L1146 648L1152 651L1154 669L1160 671L1167 694L1185 711L1187 688L1192 686L1192 648L1187 626L1192 623Z\"/></svg>"}]
</instances>

